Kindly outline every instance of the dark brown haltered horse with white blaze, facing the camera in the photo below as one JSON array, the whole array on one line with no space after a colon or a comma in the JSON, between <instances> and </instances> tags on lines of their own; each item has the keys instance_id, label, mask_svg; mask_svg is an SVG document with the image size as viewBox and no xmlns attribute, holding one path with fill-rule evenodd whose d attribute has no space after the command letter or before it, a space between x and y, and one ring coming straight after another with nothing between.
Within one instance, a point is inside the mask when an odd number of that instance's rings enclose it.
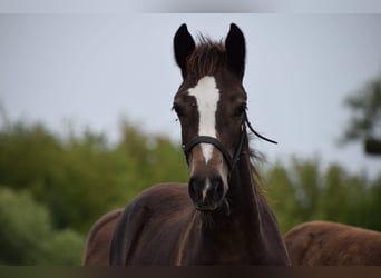
<instances>
[{"instance_id":1,"label":"dark brown haltered horse with white blaze, facing the camera","mask_svg":"<svg viewBox=\"0 0 381 278\"><path fill-rule=\"evenodd\" d=\"M247 119L242 30L232 23L224 43L203 36L196 43L182 24L174 53L182 83L173 110L189 180L152 186L127 205L109 265L290 265L250 148L247 129L272 140Z\"/></svg>"}]
</instances>

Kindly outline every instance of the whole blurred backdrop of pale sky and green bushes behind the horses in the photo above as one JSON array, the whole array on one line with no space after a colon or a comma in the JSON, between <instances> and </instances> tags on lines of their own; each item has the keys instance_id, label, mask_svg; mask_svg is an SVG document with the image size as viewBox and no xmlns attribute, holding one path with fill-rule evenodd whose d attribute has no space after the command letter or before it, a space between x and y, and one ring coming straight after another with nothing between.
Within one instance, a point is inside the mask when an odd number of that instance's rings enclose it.
<instances>
[{"instance_id":1,"label":"whole blurred backdrop of pale sky and green bushes behind the horses","mask_svg":"<svg viewBox=\"0 0 381 278\"><path fill-rule=\"evenodd\" d=\"M101 215L187 181L170 111L183 22L216 40L235 22L246 37L248 117L279 141L252 147L282 232L312 219L381 231L373 1L38 2L0 2L1 265L80 265Z\"/></svg>"}]
</instances>

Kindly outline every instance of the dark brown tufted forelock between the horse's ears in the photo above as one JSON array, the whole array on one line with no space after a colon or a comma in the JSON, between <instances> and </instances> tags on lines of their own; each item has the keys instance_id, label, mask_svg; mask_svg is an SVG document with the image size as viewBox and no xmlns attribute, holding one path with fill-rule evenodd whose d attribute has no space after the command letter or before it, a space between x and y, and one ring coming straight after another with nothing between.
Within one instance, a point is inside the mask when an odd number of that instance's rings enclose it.
<instances>
[{"instance_id":1,"label":"dark brown tufted forelock between the horse's ears","mask_svg":"<svg viewBox=\"0 0 381 278\"><path fill-rule=\"evenodd\" d=\"M202 34L197 40L196 49L187 58L187 72L201 79L214 75L226 64L226 51L222 40L214 41Z\"/></svg>"}]
</instances>

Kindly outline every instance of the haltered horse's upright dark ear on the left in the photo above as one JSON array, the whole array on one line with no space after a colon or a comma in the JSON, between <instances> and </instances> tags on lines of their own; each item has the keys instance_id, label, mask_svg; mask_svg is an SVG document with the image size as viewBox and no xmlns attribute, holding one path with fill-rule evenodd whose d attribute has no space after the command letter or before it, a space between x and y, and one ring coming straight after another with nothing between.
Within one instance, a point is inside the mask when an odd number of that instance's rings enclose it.
<instances>
[{"instance_id":1,"label":"haltered horse's upright dark ear on the left","mask_svg":"<svg viewBox=\"0 0 381 278\"><path fill-rule=\"evenodd\" d=\"M186 77L187 58L195 50L196 43L193 40L186 24L182 24L174 38L174 50L177 66L182 69L183 78Z\"/></svg>"}]
</instances>

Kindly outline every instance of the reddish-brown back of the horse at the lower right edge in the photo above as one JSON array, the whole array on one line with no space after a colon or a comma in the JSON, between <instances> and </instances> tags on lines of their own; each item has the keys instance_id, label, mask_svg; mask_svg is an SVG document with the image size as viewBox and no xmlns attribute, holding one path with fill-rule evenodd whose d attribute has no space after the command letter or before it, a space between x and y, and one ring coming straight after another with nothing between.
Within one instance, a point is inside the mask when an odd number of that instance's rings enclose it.
<instances>
[{"instance_id":1,"label":"reddish-brown back of the horse at the lower right edge","mask_svg":"<svg viewBox=\"0 0 381 278\"><path fill-rule=\"evenodd\" d=\"M331 221L309 221L284 236L292 265L381 265L381 232Z\"/></svg>"}]
</instances>

